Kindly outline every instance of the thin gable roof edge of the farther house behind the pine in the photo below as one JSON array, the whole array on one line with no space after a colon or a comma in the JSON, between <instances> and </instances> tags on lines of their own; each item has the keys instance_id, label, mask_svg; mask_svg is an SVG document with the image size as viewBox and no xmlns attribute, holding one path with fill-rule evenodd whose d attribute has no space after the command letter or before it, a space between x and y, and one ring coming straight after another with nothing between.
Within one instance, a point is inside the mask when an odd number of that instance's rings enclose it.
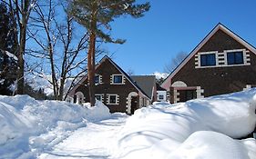
<instances>
[{"instance_id":1,"label":"thin gable roof edge of the farther house behind the pine","mask_svg":"<svg viewBox=\"0 0 256 159\"><path fill-rule=\"evenodd\" d=\"M96 65L95 69L97 70L97 67L99 65L101 65L102 63L105 62L105 60L108 60L112 65L114 65L118 71L122 74L122 75L125 75L125 77L127 78L127 80L130 82L130 84L132 84L137 90L138 92L140 92L141 94L145 95L145 97L147 97L149 100L151 99L150 96L148 96L148 94L146 94L144 92L143 89L141 89L138 84L135 84L134 81L129 77L129 75L127 75L126 72L124 72L114 61L112 61L108 55L105 55L99 62L98 64ZM79 84L83 84L85 81L87 80L87 75L85 75L70 91L69 94L75 94L75 91L77 90L77 87L79 86Z\"/></svg>"}]
</instances>

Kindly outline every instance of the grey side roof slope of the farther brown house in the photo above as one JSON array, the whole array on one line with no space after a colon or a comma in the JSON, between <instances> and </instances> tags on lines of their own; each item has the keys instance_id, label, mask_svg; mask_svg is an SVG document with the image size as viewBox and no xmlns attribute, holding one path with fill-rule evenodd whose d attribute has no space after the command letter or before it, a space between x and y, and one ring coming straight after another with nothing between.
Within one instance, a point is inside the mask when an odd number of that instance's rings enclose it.
<instances>
[{"instance_id":1,"label":"grey side roof slope of the farther brown house","mask_svg":"<svg viewBox=\"0 0 256 159\"><path fill-rule=\"evenodd\" d=\"M154 96L154 85L156 84L155 75L131 75L130 78L150 97Z\"/></svg>"}]
</instances>

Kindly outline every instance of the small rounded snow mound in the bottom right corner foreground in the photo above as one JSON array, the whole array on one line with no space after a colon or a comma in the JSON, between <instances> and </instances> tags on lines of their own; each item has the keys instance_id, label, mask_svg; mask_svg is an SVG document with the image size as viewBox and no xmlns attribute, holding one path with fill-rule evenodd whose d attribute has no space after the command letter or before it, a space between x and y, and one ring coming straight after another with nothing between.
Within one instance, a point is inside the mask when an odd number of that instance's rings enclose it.
<instances>
[{"instance_id":1,"label":"small rounded snow mound in the bottom right corner foreground","mask_svg":"<svg viewBox=\"0 0 256 159\"><path fill-rule=\"evenodd\" d=\"M247 144L245 144L247 143ZM251 144L250 144L251 143ZM254 144L253 144L254 143ZM254 146L253 146L254 145ZM177 150L165 158L247 159L256 157L255 140L236 141L225 134L201 131L191 134ZM168 144L161 145L168 148Z\"/></svg>"}]
</instances>

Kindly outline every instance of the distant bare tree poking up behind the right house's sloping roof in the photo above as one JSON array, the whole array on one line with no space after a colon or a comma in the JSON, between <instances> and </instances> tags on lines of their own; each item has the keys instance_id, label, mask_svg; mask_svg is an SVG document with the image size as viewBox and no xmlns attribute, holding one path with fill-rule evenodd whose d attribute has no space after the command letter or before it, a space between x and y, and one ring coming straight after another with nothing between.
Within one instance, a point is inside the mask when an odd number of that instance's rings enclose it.
<instances>
[{"instance_id":1,"label":"distant bare tree poking up behind the right house's sloping roof","mask_svg":"<svg viewBox=\"0 0 256 159\"><path fill-rule=\"evenodd\" d=\"M168 65L165 65L164 72L171 73L186 57L186 52L179 52L176 56L174 56Z\"/></svg>"}]
</instances>

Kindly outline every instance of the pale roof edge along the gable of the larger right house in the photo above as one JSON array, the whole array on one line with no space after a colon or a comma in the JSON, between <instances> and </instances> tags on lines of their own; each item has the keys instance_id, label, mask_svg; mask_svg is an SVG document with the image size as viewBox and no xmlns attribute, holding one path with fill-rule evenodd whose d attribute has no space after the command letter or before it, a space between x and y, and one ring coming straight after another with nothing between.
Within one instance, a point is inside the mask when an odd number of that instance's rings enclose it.
<instances>
[{"instance_id":1,"label":"pale roof edge along the gable of the larger right house","mask_svg":"<svg viewBox=\"0 0 256 159\"><path fill-rule=\"evenodd\" d=\"M170 86L170 79L176 75L179 70L186 65L189 60L196 55L200 48L205 45L209 40L210 37L212 35L215 35L215 33L217 31L223 31L224 33L226 33L227 35L230 35L230 37L232 37L234 40L236 40L237 42L239 42L241 45L244 45L247 49L249 49L252 53L254 53L256 55L256 48L254 46L252 46L251 44L249 44L247 41L245 41L244 39L242 39L239 35L236 35L234 32L232 32L228 27L226 27L225 25L222 24L218 24L216 25L208 35L206 35L203 40L200 42L199 45L197 45L191 52L190 54L169 74L169 76L164 80L164 82L161 84L162 87L165 87L166 85L169 84Z\"/></svg>"}]
</instances>

